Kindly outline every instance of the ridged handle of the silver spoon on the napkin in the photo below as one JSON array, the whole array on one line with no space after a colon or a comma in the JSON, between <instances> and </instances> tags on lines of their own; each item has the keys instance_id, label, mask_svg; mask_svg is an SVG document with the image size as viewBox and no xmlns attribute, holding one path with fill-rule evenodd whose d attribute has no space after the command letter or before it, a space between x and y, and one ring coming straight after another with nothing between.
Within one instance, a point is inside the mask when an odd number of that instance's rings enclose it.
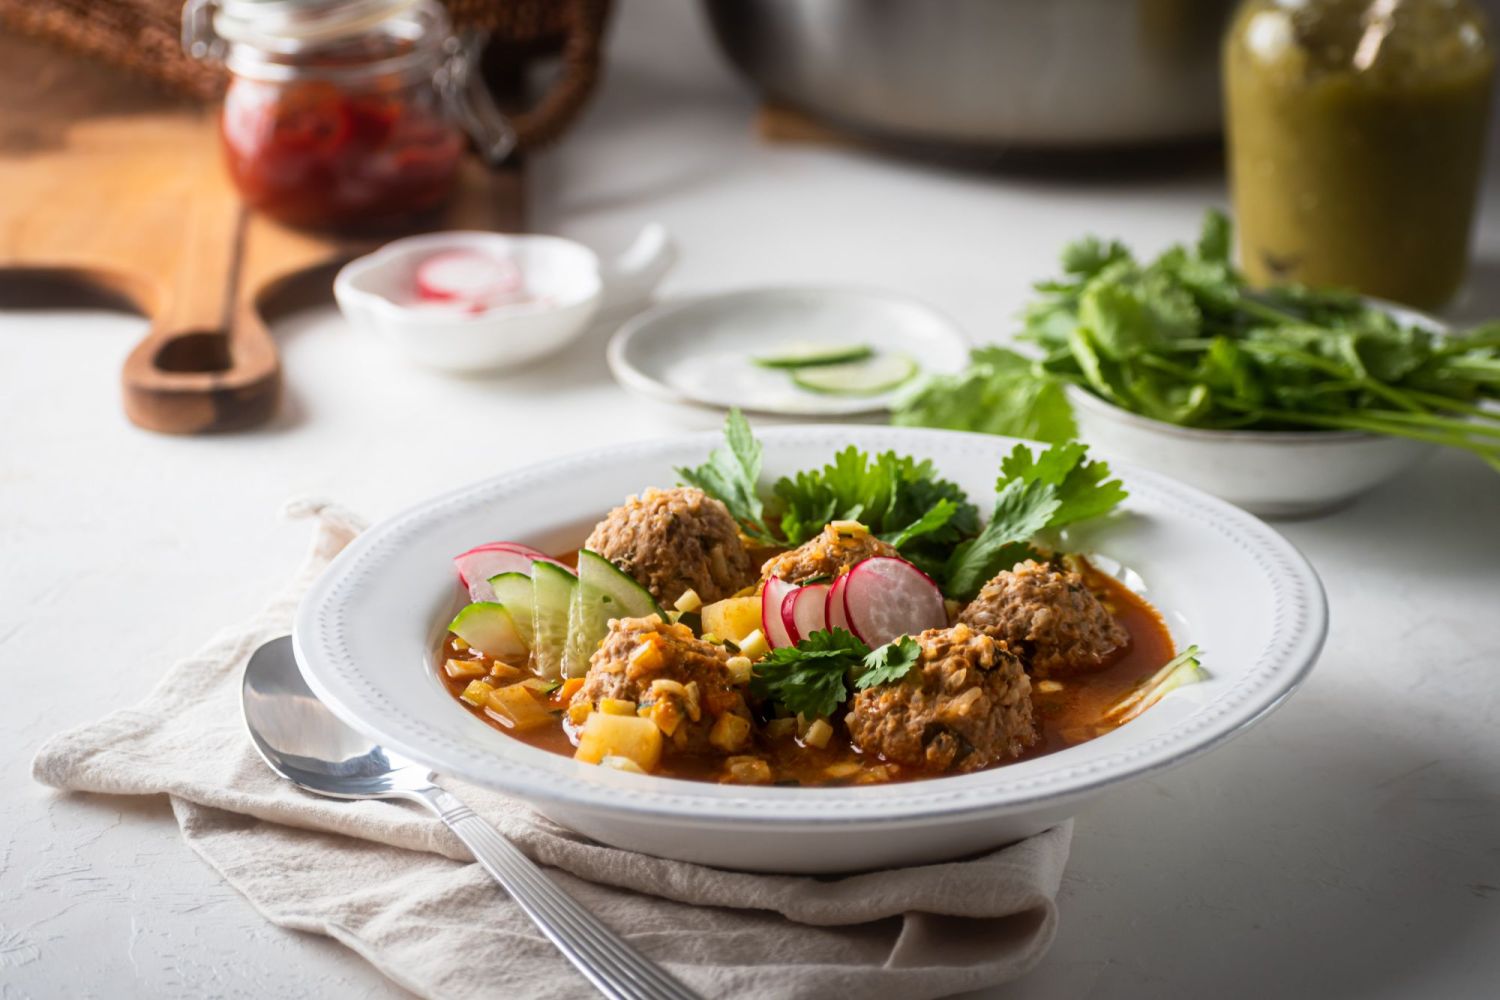
<instances>
[{"instance_id":1,"label":"ridged handle of the silver spoon on the napkin","mask_svg":"<svg viewBox=\"0 0 1500 1000\"><path fill-rule=\"evenodd\" d=\"M699 1000L698 994L558 889L536 862L453 795L430 786L414 798L438 814L474 853L474 861L495 877L602 994L618 1000Z\"/></svg>"}]
</instances>

